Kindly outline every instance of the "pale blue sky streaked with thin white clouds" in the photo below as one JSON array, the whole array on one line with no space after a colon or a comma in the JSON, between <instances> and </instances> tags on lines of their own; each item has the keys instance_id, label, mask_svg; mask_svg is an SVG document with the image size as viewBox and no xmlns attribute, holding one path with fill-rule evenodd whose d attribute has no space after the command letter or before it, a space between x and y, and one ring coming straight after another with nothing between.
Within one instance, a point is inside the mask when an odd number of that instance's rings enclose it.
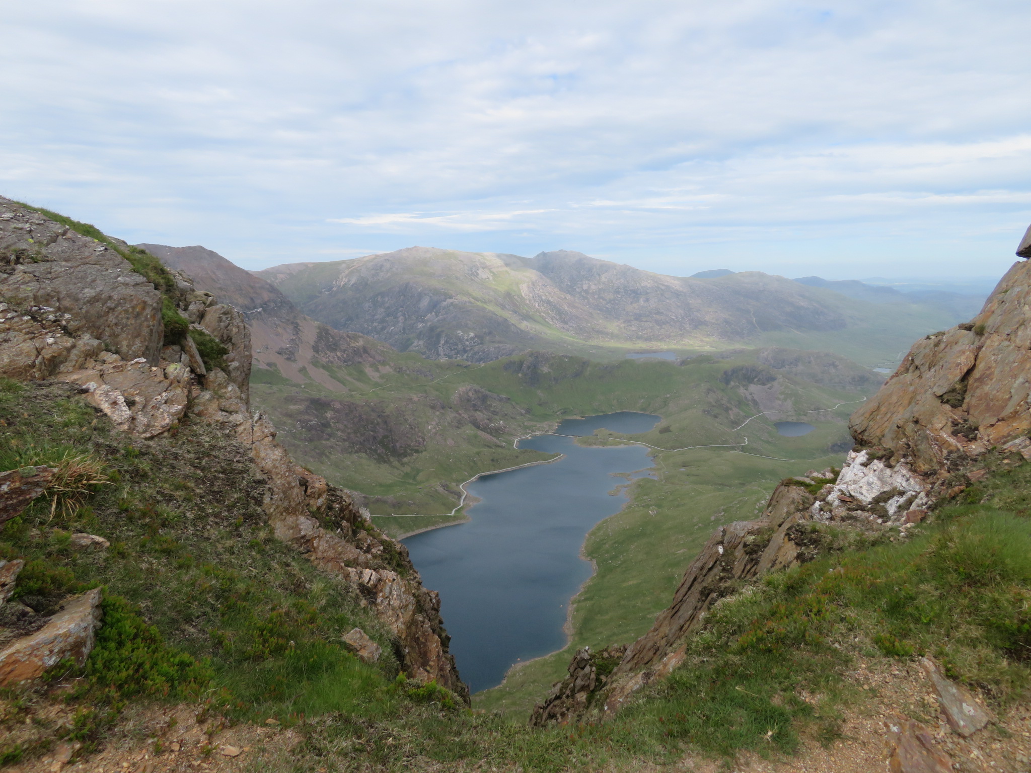
<instances>
[{"instance_id":1,"label":"pale blue sky streaked with thin white clouds","mask_svg":"<svg viewBox=\"0 0 1031 773\"><path fill-rule=\"evenodd\" d=\"M997 276L1026 0L35 0L0 194L245 268L427 246Z\"/></svg>"}]
</instances>

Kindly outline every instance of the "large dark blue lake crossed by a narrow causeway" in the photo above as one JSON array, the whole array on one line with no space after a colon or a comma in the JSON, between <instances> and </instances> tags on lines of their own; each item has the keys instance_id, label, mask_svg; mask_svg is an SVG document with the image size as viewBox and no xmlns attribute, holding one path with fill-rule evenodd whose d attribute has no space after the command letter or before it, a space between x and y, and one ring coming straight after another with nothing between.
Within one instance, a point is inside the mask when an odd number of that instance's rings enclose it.
<instances>
[{"instance_id":1,"label":"large dark blue lake crossed by a narrow causeway","mask_svg":"<svg viewBox=\"0 0 1031 773\"><path fill-rule=\"evenodd\" d=\"M567 418L556 433L633 434L660 419L621 411ZM466 507L469 523L404 540L425 585L440 594L451 651L473 693L500 684L516 663L565 646L569 601L591 576L584 539L627 502L609 494L628 482L613 473L642 477L653 467L640 445L584 448L570 437L537 435L519 446L565 458L479 478L466 486L481 500Z\"/></svg>"}]
</instances>

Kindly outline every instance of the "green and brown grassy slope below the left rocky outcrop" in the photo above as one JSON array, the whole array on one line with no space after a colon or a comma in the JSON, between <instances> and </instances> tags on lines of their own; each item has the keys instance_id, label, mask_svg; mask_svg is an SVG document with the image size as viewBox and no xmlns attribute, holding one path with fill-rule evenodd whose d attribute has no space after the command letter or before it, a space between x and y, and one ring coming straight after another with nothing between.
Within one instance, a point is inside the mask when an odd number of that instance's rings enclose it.
<instances>
[{"instance_id":1,"label":"green and brown grassy slope below the left rocky outcrop","mask_svg":"<svg viewBox=\"0 0 1031 773\"><path fill-rule=\"evenodd\" d=\"M52 613L69 593L102 585L105 625L76 700L196 698L239 718L395 711L391 638L346 586L275 540L262 481L242 448L184 423L152 441L114 431L69 384L0 383L0 467L90 461L107 482L73 507L40 497L0 532L0 558L28 562L13 599ZM72 532L107 550L74 550ZM240 549L244 546L245 549ZM377 666L340 636L377 640ZM115 711L117 714L117 711ZM95 739L113 717L84 714ZM106 718L105 718L106 717Z\"/></svg>"}]
</instances>

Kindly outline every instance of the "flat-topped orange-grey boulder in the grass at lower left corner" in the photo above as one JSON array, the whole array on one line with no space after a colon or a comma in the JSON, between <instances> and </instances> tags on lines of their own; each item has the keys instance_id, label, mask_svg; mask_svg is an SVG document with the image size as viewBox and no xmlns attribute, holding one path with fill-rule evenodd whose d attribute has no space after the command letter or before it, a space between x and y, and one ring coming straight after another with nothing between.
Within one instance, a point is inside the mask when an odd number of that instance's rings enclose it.
<instances>
[{"instance_id":1,"label":"flat-topped orange-grey boulder in the grass at lower left corner","mask_svg":"<svg viewBox=\"0 0 1031 773\"><path fill-rule=\"evenodd\" d=\"M42 629L0 651L0 686L35 679L68 658L82 666L100 626L100 599L99 587L87 591L66 602Z\"/></svg>"}]
</instances>

